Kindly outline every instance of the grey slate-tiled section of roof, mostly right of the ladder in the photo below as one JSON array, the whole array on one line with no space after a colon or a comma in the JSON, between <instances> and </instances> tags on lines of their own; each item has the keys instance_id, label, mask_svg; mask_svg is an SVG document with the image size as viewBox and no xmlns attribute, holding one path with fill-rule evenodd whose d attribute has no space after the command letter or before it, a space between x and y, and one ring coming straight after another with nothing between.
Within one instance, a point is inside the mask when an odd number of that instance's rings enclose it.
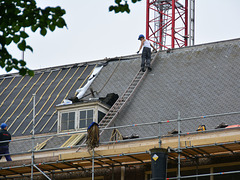
<instances>
[{"instance_id":1,"label":"grey slate-tiled section of roof, mostly right of the ladder","mask_svg":"<svg viewBox=\"0 0 240 180\"><path fill-rule=\"evenodd\" d=\"M128 78L128 71L139 69L118 69L115 78ZM107 74L102 71L101 75ZM100 82L99 76L94 88ZM123 80L122 80L123 81ZM110 83L110 81L109 81ZM118 82L113 80L102 90L119 92ZM123 88L125 89L126 86ZM111 126L158 122L161 120L204 116L239 111L240 107L240 39L163 51L153 65L135 95L118 115ZM196 131L205 124L214 129L220 123L240 124L240 115L213 117L185 121L181 131ZM123 135L137 133L140 137L158 135L158 125L119 129ZM177 129L176 123L163 124L161 134ZM105 131L102 140L109 140Z\"/></svg>"}]
</instances>

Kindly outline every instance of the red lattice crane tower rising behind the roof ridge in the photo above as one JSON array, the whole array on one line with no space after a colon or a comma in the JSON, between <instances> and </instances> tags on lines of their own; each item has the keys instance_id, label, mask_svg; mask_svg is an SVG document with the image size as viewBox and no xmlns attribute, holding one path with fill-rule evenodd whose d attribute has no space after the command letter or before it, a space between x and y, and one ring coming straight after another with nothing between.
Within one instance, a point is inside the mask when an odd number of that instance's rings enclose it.
<instances>
[{"instance_id":1,"label":"red lattice crane tower rising behind the roof ridge","mask_svg":"<svg viewBox=\"0 0 240 180\"><path fill-rule=\"evenodd\" d=\"M194 14L195 0L147 0L146 38L158 49L194 45Z\"/></svg>"}]
</instances>

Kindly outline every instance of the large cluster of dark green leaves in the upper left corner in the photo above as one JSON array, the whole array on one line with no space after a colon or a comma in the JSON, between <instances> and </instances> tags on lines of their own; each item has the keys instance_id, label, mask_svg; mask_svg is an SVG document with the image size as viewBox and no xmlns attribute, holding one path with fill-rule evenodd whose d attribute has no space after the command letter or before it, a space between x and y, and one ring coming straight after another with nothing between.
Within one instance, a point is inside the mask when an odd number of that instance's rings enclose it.
<instances>
[{"instance_id":1,"label":"large cluster of dark green leaves in the upper left corner","mask_svg":"<svg viewBox=\"0 0 240 180\"><path fill-rule=\"evenodd\" d=\"M65 10L61 7L37 7L36 0L1 0L0 1L0 66L7 72L12 69L19 71L20 75L33 76L34 72L26 66L23 59L14 58L8 51L9 45L15 44L20 51L30 50L27 44L29 35L25 28L45 36L56 28L66 27L62 16Z\"/></svg>"}]
</instances>

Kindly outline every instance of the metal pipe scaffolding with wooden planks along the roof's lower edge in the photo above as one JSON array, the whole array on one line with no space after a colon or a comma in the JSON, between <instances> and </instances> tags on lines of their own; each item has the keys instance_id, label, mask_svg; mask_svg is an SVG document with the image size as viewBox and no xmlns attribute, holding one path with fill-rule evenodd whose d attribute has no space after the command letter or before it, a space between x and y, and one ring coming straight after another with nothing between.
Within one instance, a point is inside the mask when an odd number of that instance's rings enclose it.
<instances>
[{"instance_id":1,"label":"metal pipe scaffolding with wooden planks along the roof's lower edge","mask_svg":"<svg viewBox=\"0 0 240 180\"><path fill-rule=\"evenodd\" d=\"M128 140L116 140L116 141L105 141L101 142L100 145L111 145L111 144L119 144L122 145L122 143L136 143L139 141L150 141L153 140L158 144L159 147L166 148L164 141L166 141L166 138L175 138L176 143L175 145L169 144L170 147L168 147L168 159L169 161L173 161L177 163L177 176L176 177L168 177L168 179L187 179L192 177L204 177L204 176L217 176L217 175L224 175L224 174L236 174L240 173L240 171L226 171L226 172L211 172L206 174L195 174L195 175L181 175L181 168L182 163L184 160L189 161L195 161L199 158L213 158L213 157L222 157L224 155L238 155L240 153L240 139L233 140L229 139L228 141L222 142L217 141L217 139L214 139L213 142L209 141L207 144L186 144L183 145L183 139L185 137L192 136L199 136L199 135L208 135L207 133L213 133L218 136L218 134L222 134L222 132L231 132L233 134L234 132L239 132L239 128L231 128L231 129L211 129L211 130L205 130L201 132L182 132L181 125L184 122L188 121L197 121L199 119L207 119L207 118L217 118L217 117L226 117L229 116L237 116L238 118L240 115L240 112L229 112L229 113L221 113L221 114L212 114L212 115L205 115L205 116L197 116L197 117L189 117L189 118L181 118L180 112L178 112L178 117L176 119L172 120L159 120L157 122L150 122L150 123L141 123L141 124L129 124L124 126L115 126L115 127L107 127L102 130L114 130L121 128L138 128L138 127L144 127L144 126L158 126L159 128L159 134L156 134L156 136L150 136L150 137L144 137L144 138L138 138L138 139L128 139ZM169 123L176 123L177 124L177 134L175 135L163 135L161 134L161 130L163 128L164 124ZM34 142L38 138L43 137L53 137L53 136L63 136L66 134L77 134L77 133L86 133L86 131L77 131L77 132L66 132L61 134L49 134L49 135L42 135L42 136L35 136L34 135L34 126L33 126L33 135L30 138L20 138L15 139L13 141L24 141L31 139L32 142ZM8 141L2 141L2 142L8 142ZM34 144L34 143L33 143ZM156 145L155 144L155 145ZM34 175L40 175L43 174L47 179L50 179L49 175L54 173L64 173L64 172L74 172L74 171L86 171L86 170L92 170L93 174L92 177L94 177L94 169L103 169L103 168L114 168L116 166L126 166L126 165L140 165L140 164L149 164L151 162L151 157L149 154L149 150L139 149L138 152L128 152L128 153L118 153L115 154L103 154L100 155L97 152L95 152L92 155L85 156L85 157L74 157L72 159L64 158L64 154L60 156L59 159L53 159L51 161L35 159L34 154L35 153L41 153L41 152L50 152L55 150L66 150L66 149L77 149L79 147L85 147L85 145L78 145L74 147L65 147L65 148L49 148L49 149L43 149L43 150L34 150L34 146L32 146L32 151L30 153L31 161L27 161L27 163L22 164L15 164L11 166L2 166L0 168L0 177L1 178L22 178L22 177L31 177L31 179L34 179ZM87 151L87 150L86 150ZM119 151L121 152L121 151ZM29 152L21 152L21 153L12 153L10 155L20 155L20 154L26 154ZM77 153L76 153L77 154ZM66 155L67 156L67 155ZM239 163L240 165L240 163Z\"/></svg>"}]
</instances>

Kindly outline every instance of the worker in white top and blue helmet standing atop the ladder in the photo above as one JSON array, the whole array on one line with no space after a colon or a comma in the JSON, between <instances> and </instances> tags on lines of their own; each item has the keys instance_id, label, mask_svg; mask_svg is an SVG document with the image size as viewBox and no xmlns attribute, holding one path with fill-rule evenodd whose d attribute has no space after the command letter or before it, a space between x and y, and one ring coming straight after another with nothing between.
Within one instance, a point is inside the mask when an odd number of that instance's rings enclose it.
<instances>
[{"instance_id":1,"label":"worker in white top and blue helmet standing atop the ladder","mask_svg":"<svg viewBox=\"0 0 240 180\"><path fill-rule=\"evenodd\" d=\"M146 64L146 68L148 68L148 70L151 71L152 70L152 68L150 67L151 47L154 49L154 51L157 51L157 49L148 40L146 40L144 35L142 34L139 35L138 40L141 41L141 45L137 53L139 53L143 47L141 70L142 72L145 71L145 64Z\"/></svg>"}]
</instances>

